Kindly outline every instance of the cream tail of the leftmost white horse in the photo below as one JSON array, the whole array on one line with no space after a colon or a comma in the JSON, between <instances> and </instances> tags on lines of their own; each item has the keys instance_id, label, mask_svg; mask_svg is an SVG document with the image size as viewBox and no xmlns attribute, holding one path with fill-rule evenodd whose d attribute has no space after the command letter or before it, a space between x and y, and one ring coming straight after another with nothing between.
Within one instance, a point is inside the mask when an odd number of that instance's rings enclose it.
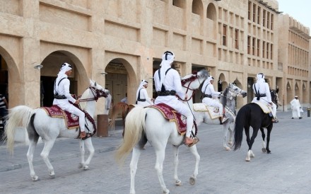
<instances>
[{"instance_id":1,"label":"cream tail of the leftmost white horse","mask_svg":"<svg viewBox=\"0 0 311 194\"><path fill-rule=\"evenodd\" d=\"M6 147L11 154L13 154L14 149L16 127L27 127L33 114L33 108L26 105L18 105L8 110L8 120L6 121L4 138L7 142Z\"/></svg>"}]
</instances>

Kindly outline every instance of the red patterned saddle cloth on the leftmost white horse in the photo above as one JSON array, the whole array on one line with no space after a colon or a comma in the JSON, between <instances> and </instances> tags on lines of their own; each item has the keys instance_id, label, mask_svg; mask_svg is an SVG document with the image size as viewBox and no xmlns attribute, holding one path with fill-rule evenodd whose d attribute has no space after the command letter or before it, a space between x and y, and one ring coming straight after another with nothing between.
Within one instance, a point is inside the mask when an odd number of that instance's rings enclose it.
<instances>
[{"instance_id":1,"label":"red patterned saddle cloth on the leftmost white horse","mask_svg":"<svg viewBox=\"0 0 311 194\"><path fill-rule=\"evenodd\" d=\"M67 128L74 129L79 127L79 118L77 115L61 110L58 105L51 107L41 107L52 118L64 118Z\"/></svg>"}]
</instances>

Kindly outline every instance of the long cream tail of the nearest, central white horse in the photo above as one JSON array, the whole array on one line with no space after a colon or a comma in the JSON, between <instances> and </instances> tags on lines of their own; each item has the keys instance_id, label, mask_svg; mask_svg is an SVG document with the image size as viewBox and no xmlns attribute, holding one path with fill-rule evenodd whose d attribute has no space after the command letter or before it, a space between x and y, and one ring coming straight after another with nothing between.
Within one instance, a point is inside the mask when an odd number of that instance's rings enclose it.
<instances>
[{"instance_id":1,"label":"long cream tail of the nearest, central white horse","mask_svg":"<svg viewBox=\"0 0 311 194\"><path fill-rule=\"evenodd\" d=\"M136 146L141 139L145 128L146 108L136 106L127 115L125 120L123 142L117 149L115 159L122 165L129 155L129 152Z\"/></svg>"}]
</instances>

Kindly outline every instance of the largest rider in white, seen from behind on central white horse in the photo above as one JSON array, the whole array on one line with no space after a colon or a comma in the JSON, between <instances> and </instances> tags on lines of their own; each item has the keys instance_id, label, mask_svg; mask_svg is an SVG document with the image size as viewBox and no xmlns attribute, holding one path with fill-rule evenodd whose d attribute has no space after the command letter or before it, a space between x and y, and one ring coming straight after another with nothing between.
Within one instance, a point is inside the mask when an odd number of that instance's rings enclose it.
<instances>
[{"instance_id":1,"label":"largest rider in white, seen from behind on central white horse","mask_svg":"<svg viewBox=\"0 0 311 194\"><path fill-rule=\"evenodd\" d=\"M193 126L193 115L186 104L178 100L177 96L182 99L187 99L187 93L182 90L182 83L180 74L175 69L172 69L172 62L174 62L175 55L170 51L164 52L160 69L154 74L155 91L158 97L155 98L155 105L158 103L165 103L174 108L178 113L187 117L187 132L184 144L193 144L194 141L190 137Z\"/></svg>"}]
</instances>

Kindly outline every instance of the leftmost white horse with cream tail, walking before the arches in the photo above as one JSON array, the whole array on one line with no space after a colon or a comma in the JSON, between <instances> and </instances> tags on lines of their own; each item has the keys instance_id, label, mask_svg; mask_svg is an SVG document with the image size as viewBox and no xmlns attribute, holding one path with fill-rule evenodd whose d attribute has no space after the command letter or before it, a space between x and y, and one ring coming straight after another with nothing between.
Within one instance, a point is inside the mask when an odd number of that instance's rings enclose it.
<instances>
[{"instance_id":1,"label":"leftmost white horse with cream tail, walking before the arches","mask_svg":"<svg viewBox=\"0 0 311 194\"><path fill-rule=\"evenodd\" d=\"M100 97L110 96L110 92L103 89L102 86L97 84L96 82L90 80L90 86L80 98L81 109L85 110L92 118L95 113L95 101ZM108 98L108 100L111 97ZM109 107L110 101L106 101L106 107ZM93 135L94 127L92 122L86 119L86 125L88 126L88 130L86 129L86 133L88 135ZM33 153L35 152L35 146L37 145L37 141L39 137L42 137L42 140L45 142L45 147L41 152L41 156L47 164L47 168L49 170L49 176L54 178L55 173L52 164L49 162L49 152L52 149L55 140L57 137L68 137L68 138L78 138L79 131L76 129L67 129L66 124L63 118L51 118L47 115L46 111L42 108L30 108L26 105L18 105L11 110L9 110L8 120L6 122L6 140L7 140L7 148L13 153L14 148L14 135L16 132L16 127L26 127L28 132L28 138L30 141L27 158L30 167L30 176L33 178L33 181L38 180L38 176L35 174L33 169ZM79 138L80 139L80 138ZM88 148L90 152L88 159L85 161L84 159L84 144ZM92 140L89 138L82 140L80 139L80 149L81 149L81 164L79 168L88 169L88 164L90 164L90 160L94 154L94 147L92 144Z\"/></svg>"}]
</instances>

